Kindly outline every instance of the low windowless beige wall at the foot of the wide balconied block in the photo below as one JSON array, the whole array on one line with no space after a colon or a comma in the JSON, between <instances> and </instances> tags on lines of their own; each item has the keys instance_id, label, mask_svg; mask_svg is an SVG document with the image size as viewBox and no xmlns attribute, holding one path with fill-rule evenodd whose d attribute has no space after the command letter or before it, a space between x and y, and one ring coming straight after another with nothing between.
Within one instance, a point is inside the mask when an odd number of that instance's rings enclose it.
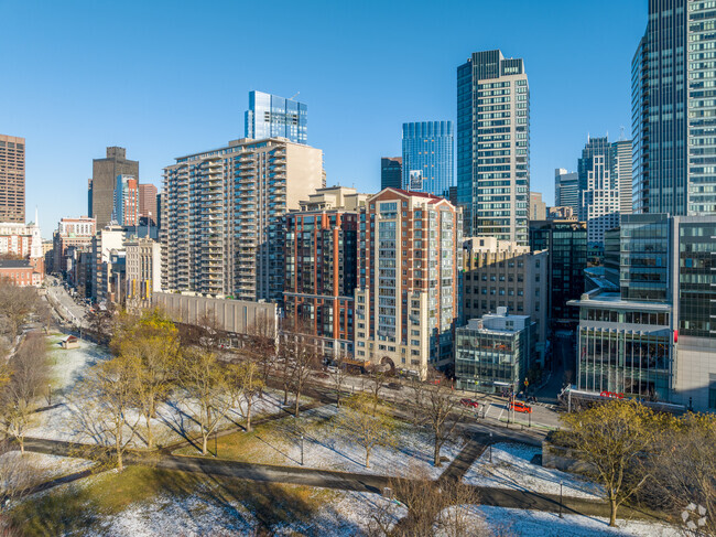
<instances>
[{"instance_id":1,"label":"low windowless beige wall at the foot of the wide balconied block","mask_svg":"<svg viewBox=\"0 0 716 537\"><path fill-rule=\"evenodd\" d=\"M278 326L276 304L269 302L156 292L152 305L162 308L173 321L181 323L194 324L202 318L213 318L223 330L234 334L248 334L251 325L263 316L272 322L274 333Z\"/></svg>"}]
</instances>

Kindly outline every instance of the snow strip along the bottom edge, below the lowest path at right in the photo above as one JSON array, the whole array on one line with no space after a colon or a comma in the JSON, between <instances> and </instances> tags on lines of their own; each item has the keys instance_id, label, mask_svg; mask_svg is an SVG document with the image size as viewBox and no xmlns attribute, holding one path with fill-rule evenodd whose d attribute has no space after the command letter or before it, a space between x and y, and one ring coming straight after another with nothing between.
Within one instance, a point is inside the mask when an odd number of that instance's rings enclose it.
<instances>
[{"instance_id":1,"label":"snow strip along the bottom edge, below the lowest path at right","mask_svg":"<svg viewBox=\"0 0 716 537\"><path fill-rule=\"evenodd\" d=\"M683 533L660 523L617 519L616 528L609 527L609 519L596 516L564 515L541 511L511 509L507 507L476 507L492 530L507 535L539 535L540 537L679 537Z\"/></svg>"}]
</instances>

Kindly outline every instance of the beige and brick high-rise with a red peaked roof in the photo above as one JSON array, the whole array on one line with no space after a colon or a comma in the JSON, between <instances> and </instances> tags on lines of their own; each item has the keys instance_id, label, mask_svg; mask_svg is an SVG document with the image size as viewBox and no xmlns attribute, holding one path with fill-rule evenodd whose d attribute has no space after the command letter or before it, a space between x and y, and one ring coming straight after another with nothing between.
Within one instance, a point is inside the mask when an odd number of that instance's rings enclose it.
<instances>
[{"instance_id":1,"label":"beige and brick high-rise with a red peaked roof","mask_svg":"<svg viewBox=\"0 0 716 537\"><path fill-rule=\"evenodd\" d=\"M357 359L425 377L452 365L462 265L459 210L433 194L386 189L360 212Z\"/></svg>"}]
</instances>

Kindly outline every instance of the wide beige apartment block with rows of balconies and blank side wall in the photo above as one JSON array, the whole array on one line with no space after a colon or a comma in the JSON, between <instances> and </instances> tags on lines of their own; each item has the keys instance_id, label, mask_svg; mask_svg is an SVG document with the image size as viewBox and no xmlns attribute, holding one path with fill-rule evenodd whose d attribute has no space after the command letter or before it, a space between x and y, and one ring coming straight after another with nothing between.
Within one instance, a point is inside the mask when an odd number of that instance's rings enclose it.
<instances>
[{"instance_id":1,"label":"wide beige apartment block with rows of balconies and blank side wall","mask_svg":"<svg viewBox=\"0 0 716 537\"><path fill-rule=\"evenodd\" d=\"M324 186L323 152L235 140L164 169L162 289L281 301L284 216Z\"/></svg>"}]
</instances>

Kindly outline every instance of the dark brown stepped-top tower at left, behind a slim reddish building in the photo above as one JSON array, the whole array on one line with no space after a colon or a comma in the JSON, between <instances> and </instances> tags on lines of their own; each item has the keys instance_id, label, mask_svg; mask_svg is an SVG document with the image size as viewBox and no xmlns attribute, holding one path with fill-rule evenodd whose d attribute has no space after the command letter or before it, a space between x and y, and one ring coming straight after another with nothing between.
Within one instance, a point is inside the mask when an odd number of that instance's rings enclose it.
<instances>
[{"instance_id":1,"label":"dark brown stepped-top tower at left, behind a slim reddish building","mask_svg":"<svg viewBox=\"0 0 716 537\"><path fill-rule=\"evenodd\" d=\"M115 189L119 175L131 175L139 183L139 162L127 160L124 148L107 148L107 157L93 160L93 179L89 180L87 202L89 217L97 229L110 223L115 208Z\"/></svg>"}]
</instances>

